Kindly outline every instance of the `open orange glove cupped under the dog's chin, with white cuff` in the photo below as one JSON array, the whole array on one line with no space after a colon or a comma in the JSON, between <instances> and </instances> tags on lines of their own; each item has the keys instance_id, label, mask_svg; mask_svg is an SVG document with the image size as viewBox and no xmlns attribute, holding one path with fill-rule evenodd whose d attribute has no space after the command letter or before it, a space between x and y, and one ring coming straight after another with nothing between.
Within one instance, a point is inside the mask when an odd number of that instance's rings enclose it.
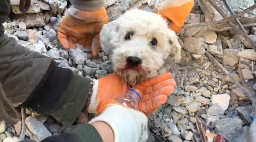
<instances>
[{"instance_id":1,"label":"open orange glove cupped under the dog's chin, with white cuff","mask_svg":"<svg viewBox=\"0 0 256 142\"><path fill-rule=\"evenodd\" d=\"M128 89L131 89L131 86L127 85L127 83L122 83L121 77L116 73L109 74L99 80L94 80L94 82L95 89L90 99L89 113L97 113L96 107L101 100L123 95L127 93ZM176 87L176 83L172 79L170 72L133 86L133 88L139 89L143 94L139 102L140 111L148 115L158 109L167 101L167 96L173 93L174 87Z\"/></svg>"}]
</instances>

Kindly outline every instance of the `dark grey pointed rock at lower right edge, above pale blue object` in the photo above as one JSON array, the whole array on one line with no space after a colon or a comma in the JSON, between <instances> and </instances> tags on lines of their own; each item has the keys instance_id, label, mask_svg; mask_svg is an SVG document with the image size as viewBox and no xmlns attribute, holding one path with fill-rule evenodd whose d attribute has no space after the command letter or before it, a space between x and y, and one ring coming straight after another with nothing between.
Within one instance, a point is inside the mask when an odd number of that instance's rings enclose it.
<instances>
[{"instance_id":1,"label":"dark grey pointed rock at lower right edge, above pale blue object","mask_svg":"<svg viewBox=\"0 0 256 142\"><path fill-rule=\"evenodd\" d=\"M253 107L247 106L247 107L238 107L236 108L238 110L238 114L241 119L244 120L245 124L249 125L252 123L252 118L250 117L250 114L253 113Z\"/></svg>"}]
</instances>

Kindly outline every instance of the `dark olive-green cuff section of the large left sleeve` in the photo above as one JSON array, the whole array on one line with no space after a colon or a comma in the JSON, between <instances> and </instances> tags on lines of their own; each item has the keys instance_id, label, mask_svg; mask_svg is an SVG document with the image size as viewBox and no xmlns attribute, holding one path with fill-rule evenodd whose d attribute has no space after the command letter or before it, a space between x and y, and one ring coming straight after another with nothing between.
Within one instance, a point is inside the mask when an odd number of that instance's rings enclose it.
<instances>
[{"instance_id":1,"label":"dark olive-green cuff section of the large left sleeve","mask_svg":"<svg viewBox=\"0 0 256 142\"><path fill-rule=\"evenodd\" d=\"M53 111L49 112L66 127L75 122L87 101L91 80L73 73L71 82Z\"/></svg>"}]
</instances>

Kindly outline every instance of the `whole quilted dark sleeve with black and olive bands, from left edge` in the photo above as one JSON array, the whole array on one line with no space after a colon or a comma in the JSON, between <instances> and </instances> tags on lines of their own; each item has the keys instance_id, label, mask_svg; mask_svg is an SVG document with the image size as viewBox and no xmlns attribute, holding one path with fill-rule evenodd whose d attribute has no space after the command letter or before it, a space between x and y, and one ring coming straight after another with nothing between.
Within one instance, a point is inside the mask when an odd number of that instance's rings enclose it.
<instances>
[{"instance_id":1,"label":"whole quilted dark sleeve with black and olive bands, from left edge","mask_svg":"<svg viewBox=\"0 0 256 142\"><path fill-rule=\"evenodd\" d=\"M54 60L0 36L0 82L16 106L51 114L71 125L87 100L90 79L58 67Z\"/></svg>"}]
</instances>

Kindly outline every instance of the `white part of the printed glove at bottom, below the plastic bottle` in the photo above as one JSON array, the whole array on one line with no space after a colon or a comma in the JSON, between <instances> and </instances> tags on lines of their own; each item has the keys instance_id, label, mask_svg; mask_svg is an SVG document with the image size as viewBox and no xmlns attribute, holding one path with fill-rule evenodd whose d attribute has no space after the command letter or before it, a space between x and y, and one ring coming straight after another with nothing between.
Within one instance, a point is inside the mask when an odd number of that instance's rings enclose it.
<instances>
[{"instance_id":1,"label":"white part of the printed glove at bottom, below the plastic bottle","mask_svg":"<svg viewBox=\"0 0 256 142\"><path fill-rule=\"evenodd\" d=\"M113 105L108 107L89 124L102 121L114 132L114 142L146 142L148 139L148 118L139 111Z\"/></svg>"}]
</instances>

